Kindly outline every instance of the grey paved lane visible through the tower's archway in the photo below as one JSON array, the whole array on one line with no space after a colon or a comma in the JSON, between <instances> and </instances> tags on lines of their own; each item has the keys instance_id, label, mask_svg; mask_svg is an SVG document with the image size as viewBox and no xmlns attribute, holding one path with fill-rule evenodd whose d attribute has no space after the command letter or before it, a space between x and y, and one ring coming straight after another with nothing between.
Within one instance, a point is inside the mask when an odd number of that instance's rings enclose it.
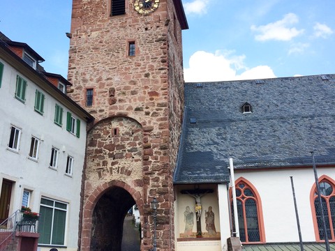
<instances>
[{"instance_id":1,"label":"grey paved lane visible through the tower's archway","mask_svg":"<svg viewBox=\"0 0 335 251\"><path fill-rule=\"evenodd\" d=\"M122 251L140 251L140 231L135 228L133 216L124 218L124 236L122 237Z\"/></svg>"}]
</instances>

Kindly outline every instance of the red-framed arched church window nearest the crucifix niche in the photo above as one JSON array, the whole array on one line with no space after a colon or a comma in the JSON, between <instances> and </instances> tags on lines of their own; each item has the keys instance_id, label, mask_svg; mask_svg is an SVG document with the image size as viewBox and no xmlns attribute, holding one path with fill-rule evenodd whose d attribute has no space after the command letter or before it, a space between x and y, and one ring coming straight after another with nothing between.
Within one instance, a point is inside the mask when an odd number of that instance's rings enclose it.
<instances>
[{"instance_id":1,"label":"red-framed arched church window nearest the crucifix niche","mask_svg":"<svg viewBox=\"0 0 335 251\"><path fill-rule=\"evenodd\" d=\"M262 203L257 190L244 178L239 178L235 183L239 238L241 242L265 242ZM234 220L232 192L230 192L230 199L232 205L232 219ZM235 231L235 229L233 229L233 231Z\"/></svg>"}]
</instances>

